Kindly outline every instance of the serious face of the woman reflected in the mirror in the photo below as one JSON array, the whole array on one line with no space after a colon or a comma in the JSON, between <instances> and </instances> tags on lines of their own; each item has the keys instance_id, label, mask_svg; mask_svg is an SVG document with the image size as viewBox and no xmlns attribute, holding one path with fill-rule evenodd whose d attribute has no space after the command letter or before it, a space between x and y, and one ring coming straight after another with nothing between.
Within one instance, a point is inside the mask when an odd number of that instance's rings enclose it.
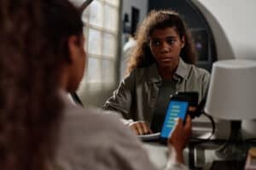
<instances>
[{"instance_id":1,"label":"serious face of the woman reflected in the mirror","mask_svg":"<svg viewBox=\"0 0 256 170\"><path fill-rule=\"evenodd\" d=\"M184 37L179 37L175 27L155 29L150 36L149 44L159 67L177 68Z\"/></svg>"}]
</instances>

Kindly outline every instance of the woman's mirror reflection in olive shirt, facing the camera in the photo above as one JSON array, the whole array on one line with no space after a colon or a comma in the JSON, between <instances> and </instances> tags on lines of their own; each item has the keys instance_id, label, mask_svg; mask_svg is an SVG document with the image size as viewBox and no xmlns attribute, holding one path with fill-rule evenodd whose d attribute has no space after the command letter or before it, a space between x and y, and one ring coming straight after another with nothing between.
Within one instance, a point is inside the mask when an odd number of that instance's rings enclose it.
<instances>
[{"instance_id":1,"label":"woman's mirror reflection in olive shirt, facing the camera","mask_svg":"<svg viewBox=\"0 0 256 170\"><path fill-rule=\"evenodd\" d=\"M128 75L103 108L117 111L135 133L157 133L163 125L170 96L197 92L206 98L210 74L195 66L189 29L171 10L151 11L137 31Z\"/></svg>"}]
</instances>

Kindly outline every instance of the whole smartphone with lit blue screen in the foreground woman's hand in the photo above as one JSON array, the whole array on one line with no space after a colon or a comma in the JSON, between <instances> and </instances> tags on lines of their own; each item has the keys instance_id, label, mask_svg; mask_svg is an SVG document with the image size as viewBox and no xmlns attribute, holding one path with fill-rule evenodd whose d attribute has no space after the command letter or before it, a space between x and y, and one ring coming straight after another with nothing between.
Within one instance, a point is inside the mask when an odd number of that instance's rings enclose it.
<instances>
[{"instance_id":1,"label":"whole smartphone with lit blue screen in the foreground woman's hand","mask_svg":"<svg viewBox=\"0 0 256 170\"><path fill-rule=\"evenodd\" d=\"M184 96L173 96L169 102L166 111L166 118L160 133L162 142L166 142L175 126L176 119L181 118L183 121L186 118L189 109L189 99Z\"/></svg>"}]
</instances>

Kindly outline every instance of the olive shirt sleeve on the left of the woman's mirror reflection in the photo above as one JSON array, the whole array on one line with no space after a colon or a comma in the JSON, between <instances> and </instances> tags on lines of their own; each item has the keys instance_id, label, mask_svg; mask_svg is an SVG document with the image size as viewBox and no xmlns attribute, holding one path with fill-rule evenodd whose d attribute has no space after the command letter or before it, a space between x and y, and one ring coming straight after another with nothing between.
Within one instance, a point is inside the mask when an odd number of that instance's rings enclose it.
<instances>
[{"instance_id":1,"label":"olive shirt sleeve on the left of the woman's mirror reflection","mask_svg":"<svg viewBox=\"0 0 256 170\"><path fill-rule=\"evenodd\" d=\"M131 74L120 82L119 88L113 92L113 95L103 105L103 109L108 111L117 111L125 119L131 119L131 115L129 113L131 109L132 96L134 94L134 87L135 71L131 71Z\"/></svg>"}]
</instances>

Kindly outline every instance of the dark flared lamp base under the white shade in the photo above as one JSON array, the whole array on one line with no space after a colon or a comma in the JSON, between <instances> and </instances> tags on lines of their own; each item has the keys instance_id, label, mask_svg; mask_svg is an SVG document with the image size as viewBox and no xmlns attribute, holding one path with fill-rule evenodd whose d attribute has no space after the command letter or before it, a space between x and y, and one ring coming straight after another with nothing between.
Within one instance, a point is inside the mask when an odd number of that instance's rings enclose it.
<instances>
[{"instance_id":1,"label":"dark flared lamp base under the white shade","mask_svg":"<svg viewBox=\"0 0 256 170\"><path fill-rule=\"evenodd\" d=\"M231 121L231 133L228 141L216 150L216 156L224 160L245 160L247 145L241 137L241 121Z\"/></svg>"}]
</instances>

